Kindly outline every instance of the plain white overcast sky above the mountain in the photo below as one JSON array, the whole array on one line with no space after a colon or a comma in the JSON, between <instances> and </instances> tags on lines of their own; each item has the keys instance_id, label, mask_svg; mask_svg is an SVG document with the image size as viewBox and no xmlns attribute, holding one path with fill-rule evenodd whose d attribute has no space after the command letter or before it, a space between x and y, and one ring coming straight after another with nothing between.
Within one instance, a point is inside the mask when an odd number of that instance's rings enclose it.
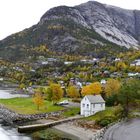
<instances>
[{"instance_id":1,"label":"plain white overcast sky above the mountain","mask_svg":"<svg viewBox=\"0 0 140 140\"><path fill-rule=\"evenodd\" d=\"M0 0L0 39L36 24L50 8L74 6L88 0ZM139 9L140 0L97 0L126 9Z\"/></svg>"}]
</instances>

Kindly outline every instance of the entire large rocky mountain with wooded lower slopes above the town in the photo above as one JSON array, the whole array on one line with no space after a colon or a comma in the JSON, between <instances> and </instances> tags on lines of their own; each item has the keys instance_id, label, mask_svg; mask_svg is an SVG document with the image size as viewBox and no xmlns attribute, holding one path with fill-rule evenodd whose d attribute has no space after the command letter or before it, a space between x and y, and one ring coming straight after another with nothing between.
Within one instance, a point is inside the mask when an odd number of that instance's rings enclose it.
<instances>
[{"instance_id":1,"label":"entire large rocky mountain with wooded lower slopes above the town","mask_svg":"<svg viewBox=\"0 0 140 140\"><path fill-rule=\"evenodd\" d=\"M112 55L140 43L140 11L96 1L59 6L47 11L38 24L0 41L0 56L25 57L25 50L40 45L55 52Z\"/></svg>"}]
</instances>

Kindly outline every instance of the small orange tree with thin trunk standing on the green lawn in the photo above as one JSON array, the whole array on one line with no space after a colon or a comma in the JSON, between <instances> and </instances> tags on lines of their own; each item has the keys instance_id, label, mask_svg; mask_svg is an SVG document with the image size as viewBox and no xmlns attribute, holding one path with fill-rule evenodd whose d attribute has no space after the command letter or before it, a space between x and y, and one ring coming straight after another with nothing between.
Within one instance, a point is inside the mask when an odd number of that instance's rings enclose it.
<instances>
[{"instance_id":1,"label":"small orange tree with thin trunk standing on the green lawn","mask_svg":"<svg viewBox=\"0 0 140 140\"><path fill-rule=\"evenodd\" d=\"M40 92L36 92L33 97L34 104L37 105L37 110L39 110L39 107L44 104L44 98Z\"/></svg>"}]
</instances>

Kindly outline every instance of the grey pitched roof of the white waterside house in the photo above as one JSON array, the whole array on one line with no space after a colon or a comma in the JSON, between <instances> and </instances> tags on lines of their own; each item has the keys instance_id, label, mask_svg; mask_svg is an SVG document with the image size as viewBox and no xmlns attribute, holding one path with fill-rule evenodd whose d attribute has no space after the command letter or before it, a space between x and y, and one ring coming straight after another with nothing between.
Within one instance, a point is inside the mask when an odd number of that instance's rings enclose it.
<instances>
[{"instance_id":1,"label":"grey pitched roof of the white waterside house","mask_svg":"<svg viewBox=\"0 0 140 140\"><path fill-rule=\"evenodd\" d=\"M101 95L86 95L90 103L105 103Z\"/></svg>"}]
</instances>

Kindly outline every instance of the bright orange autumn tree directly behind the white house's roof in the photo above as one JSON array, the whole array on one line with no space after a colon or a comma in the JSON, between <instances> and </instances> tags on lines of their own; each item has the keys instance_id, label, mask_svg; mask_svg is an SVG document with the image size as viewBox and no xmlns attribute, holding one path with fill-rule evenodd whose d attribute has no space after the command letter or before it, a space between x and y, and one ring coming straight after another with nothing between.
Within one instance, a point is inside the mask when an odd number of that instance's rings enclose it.
<instances>
[{"instance_id":1,"label":"bright orange autumn tree directly behind the white house's roof","mask_svg":"<svg viewBox=\"0 0 140 140\"><path fill-rule=\"evenodd\" d=\"M82 95L94 95L94 94L100 94L102 91L101 84L99 82L94 82L90 85L84 86L82 88Z\"/></svg>"}]
</instances>

